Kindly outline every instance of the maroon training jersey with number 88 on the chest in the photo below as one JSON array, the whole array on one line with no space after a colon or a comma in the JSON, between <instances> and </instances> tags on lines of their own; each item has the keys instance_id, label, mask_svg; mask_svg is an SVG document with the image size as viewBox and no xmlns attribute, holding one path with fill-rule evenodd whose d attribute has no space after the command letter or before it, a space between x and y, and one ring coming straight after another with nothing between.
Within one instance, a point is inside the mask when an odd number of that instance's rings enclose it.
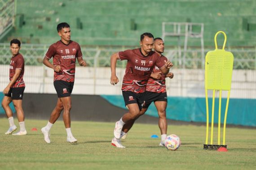
<instances>
[{"instance_id":1,"label":"maroon training jersey with number 88 on the chest","mask_svg":"<svg viewBox=\"0 0 256 170\"><path fill-rule=\"evenodd\" d=\"M45 57L48 59L53 57L53 65L61 66L60 72L54 71L54 81L75 81L75 61L76 58L83 57L78 43L70 41L66 45L61 40L57 41L49 47Z\"/></svg>"}]
</instances>

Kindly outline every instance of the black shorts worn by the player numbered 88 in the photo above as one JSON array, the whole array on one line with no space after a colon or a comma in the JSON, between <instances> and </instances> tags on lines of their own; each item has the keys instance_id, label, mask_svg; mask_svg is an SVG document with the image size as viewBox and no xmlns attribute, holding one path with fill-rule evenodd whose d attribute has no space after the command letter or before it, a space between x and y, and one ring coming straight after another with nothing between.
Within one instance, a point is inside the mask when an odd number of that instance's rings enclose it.
<instances>
[{"instance_id":1,"label":"black shorts worn by the player numbered 88","mask_svg":"<svg viewBox=\"0 0 256 170\"><path fill-rule=\"evenodd\" d=\"M58 98L65 98L71 95L74 87L74 82L57 80L53 82L53 85L57 92Z\"/></svg>"}]
</instances>

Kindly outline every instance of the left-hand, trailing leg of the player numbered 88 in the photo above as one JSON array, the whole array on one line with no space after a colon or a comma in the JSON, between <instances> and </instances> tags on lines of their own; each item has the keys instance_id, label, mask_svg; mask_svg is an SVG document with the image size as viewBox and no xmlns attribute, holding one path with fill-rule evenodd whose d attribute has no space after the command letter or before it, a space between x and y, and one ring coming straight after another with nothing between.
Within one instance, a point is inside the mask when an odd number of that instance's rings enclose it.
<instances>
[{"instance_id":1,"label":"left-hand, trailing leg of the player numbered 88","mask_svg":"<svg viewBox=\"0 0 256 170\"><path fill-rule=\"evenodd\" d=\"M50 119L49 119L47 125L45 127L41 128L41 132L44 134L44 141L46 143L51 142L50 141L50 130L53 127L53 124L60 117L62 110L63 110L63 105L62 105L60 98L58 98L57 104L51 113L51 116L50 116Z\"/></svg>"}]
</instances>

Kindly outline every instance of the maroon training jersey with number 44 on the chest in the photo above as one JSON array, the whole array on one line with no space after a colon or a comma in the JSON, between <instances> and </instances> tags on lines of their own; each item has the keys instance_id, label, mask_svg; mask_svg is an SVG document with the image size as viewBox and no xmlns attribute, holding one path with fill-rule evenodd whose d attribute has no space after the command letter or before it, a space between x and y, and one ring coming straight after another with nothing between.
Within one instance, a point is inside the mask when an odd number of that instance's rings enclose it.
<instances>
[{"instance_id":1,"label":"maroon training jersey with number 44 on the chest","mask_svg":"<svg viewBox=\"0 0 256 170\"><path fill-rule=\"evenodd\" d=\"M154 65L163 68L165 64L156 52L151 51L149 55L145 56L140 48L120 51L118 55L120 60L128 60L122 85L123 91L145 92Z\"/></svg>"}]
</instances>

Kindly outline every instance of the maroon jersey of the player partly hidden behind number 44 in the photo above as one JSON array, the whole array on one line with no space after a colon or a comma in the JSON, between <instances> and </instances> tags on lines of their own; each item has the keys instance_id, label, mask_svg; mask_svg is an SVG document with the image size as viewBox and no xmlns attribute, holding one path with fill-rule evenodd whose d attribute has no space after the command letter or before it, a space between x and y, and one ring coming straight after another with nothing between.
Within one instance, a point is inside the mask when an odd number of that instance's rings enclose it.
<instances>
[{"instance_id":1,"label":"maroon jersey of the player partly hidden behind number 44","mask_svg":"<svg viewBox=\"0 0 256 170\"><path fill-rule=\"evenodd\" d=\"M167 61L168 59L161 55L161 58L164 61ZM152 72L161 72L161 70L154 66L154 69ZM152 77L149 78L146 86L146 91L154 92L154 93L164 93L166 92L166 86L165 86L165 75L161 72L161 77L159 80L153 79Z\"/></svg>"}]
</instances>

